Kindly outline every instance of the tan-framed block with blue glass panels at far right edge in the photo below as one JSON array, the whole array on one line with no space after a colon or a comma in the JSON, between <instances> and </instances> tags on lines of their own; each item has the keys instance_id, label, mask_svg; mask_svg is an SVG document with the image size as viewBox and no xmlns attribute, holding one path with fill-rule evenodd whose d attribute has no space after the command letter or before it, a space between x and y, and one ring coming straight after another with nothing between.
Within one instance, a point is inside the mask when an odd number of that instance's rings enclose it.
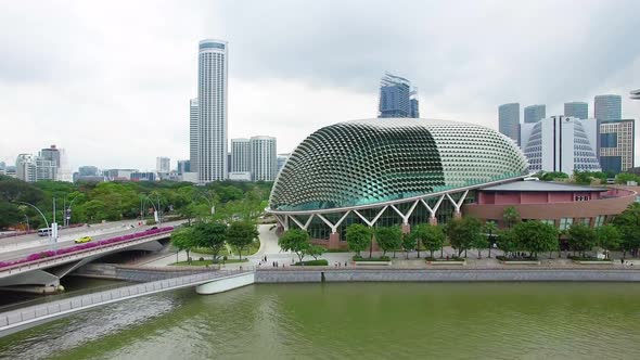
<instances>
[{"instance_id":1,"label":"tan-framed block with blue glass panels at far right edge","mask_svg":"<svg viewBox=\"0 0 640 360\"><path fill-rule=\"evenodd\" d=\"M600 123L600 165L602 171L625 172L633 167L635 119Z\"/></svg>"}]
</instances>

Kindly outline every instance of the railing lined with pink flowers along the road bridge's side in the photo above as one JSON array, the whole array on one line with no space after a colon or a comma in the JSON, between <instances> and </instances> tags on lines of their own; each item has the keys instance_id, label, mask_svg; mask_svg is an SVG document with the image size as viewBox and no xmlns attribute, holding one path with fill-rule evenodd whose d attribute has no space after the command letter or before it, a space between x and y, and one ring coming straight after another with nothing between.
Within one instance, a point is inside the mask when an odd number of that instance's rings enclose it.
<instances>
[{"instance_id":1,"label":"railing lined with pink flowers along the road bridge's side","mask_svg":"<svg viewBox=\"0 0 640 360\"><path fill-rule=\"evenodd\" d=\"M170 233L174 230L172 227L146 230L139 233L128 234L124 236L117 236L106 240L101 240L92 243L86 243L81 245L75 245L69 247L60 248L57 250L46 250L40 253L31 254L25 258L15 261L0 261L0 272L11 273L12 270L31 269L31 267L39 268L39 265L56 261L60 259L69 259L71 257L78 257L78 255L87 255L92 253L101 253L105 248L117 248L117 245L129 244L131 242L164 235ZM97 252L98 250L98 252Z\"/></svg>"}]
</instances>

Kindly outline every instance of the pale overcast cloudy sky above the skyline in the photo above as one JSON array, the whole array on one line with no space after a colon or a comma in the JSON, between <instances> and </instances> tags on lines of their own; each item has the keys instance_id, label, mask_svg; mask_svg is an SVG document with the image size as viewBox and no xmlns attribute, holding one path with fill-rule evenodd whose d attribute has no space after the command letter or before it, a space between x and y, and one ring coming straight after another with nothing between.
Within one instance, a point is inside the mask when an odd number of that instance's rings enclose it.
<instances>
[{"instance_id":1,"label":"pale overcast cloudy sky above the skyline","mask_svg":"<svg viewBox=\"0 0 640 360\"><path fill-rule=\"evenodd\" d=\"M206 38L229 41L229 139L272 136L279 153L375 117L385 72L418 87L424 118L497 129L503 103L550 116L585 101L592 116L593 97L615 93L640 120L639 13L636 0L0 0L0 162L56 144L74 169L175 167Z\"/></svg>"}]
</instances>

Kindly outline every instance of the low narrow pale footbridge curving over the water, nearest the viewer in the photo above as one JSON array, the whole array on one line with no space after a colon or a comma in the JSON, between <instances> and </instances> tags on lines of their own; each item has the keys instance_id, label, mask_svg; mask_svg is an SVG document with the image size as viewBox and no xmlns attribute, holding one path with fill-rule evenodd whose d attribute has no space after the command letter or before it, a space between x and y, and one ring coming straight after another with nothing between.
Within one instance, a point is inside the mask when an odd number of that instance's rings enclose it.
<instances>
[{"instance_id":1,"label":"low narrow pale footbridge curving over the water, nearest the viewer","mask_svg":"<svg viewBox=\"0 0 640 360\"><path fill-rule=\"evenodd\" d=\"M214 294L252 284L254 279L254 270L209 270L11 310L0 313L0 337L78 311L135 297L199 285L214 286L216 291L207 292Z\"/></svg>"}]
</instances>

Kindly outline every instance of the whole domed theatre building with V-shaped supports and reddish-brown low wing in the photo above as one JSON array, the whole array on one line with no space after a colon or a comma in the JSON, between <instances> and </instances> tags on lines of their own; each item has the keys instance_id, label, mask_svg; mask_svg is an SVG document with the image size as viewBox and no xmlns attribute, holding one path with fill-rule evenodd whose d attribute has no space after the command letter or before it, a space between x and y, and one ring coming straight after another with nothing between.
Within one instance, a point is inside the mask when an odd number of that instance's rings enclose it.
<instances>
[{"instance_id":1,"label":"whole domed theatre building with V-shaped supports and reddish-brown low wing","mask_svg":"<svg viewBox=\"0 0 640 360\"><path fill-rule=\"evenodd\" d=\"M351 223L411 227L460 216L523 220L563 229L605 223L636 201L624 189L525 181L528 164L513 141L473 124L414 118L323 127L293 151L276 179L268 211L279 229L307 230L313 242L345 247Z\"/></svg>"}]
</instances>

